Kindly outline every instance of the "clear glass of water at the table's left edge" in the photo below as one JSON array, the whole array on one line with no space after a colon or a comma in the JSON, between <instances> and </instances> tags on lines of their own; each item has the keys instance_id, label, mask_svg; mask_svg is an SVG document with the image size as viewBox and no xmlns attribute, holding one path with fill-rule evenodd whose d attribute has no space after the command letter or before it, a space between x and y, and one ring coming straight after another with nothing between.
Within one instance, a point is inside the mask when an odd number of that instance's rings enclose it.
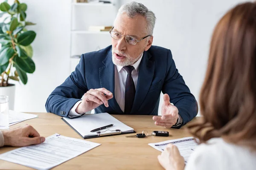
<instances>
[{"instance_id":1,"label":"clear glass of water at the table's left edge","mask_svg":"<svg viewBox=\"0 0 256 170\"><path fill-rule=\"evenodd\" d=\"M9 127L9 97L0 96L0 127Z\"/></svg>"}]
</instances>

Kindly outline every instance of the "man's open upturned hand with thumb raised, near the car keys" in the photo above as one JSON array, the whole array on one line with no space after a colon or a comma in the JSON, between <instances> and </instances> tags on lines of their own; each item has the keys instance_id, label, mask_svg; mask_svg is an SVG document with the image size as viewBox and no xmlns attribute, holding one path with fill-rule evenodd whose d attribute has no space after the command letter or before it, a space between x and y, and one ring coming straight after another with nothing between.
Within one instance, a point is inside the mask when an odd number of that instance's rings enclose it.
<instances>
[{"instance_id":1,"label":"man's open upturned hand with thumb raised, near the car keys","mask_svg":"<svg viewBox=\"0 0 256 170\"><path fill-rule=\"evenodd\" d=\"M153 120L156 121L155 125L170 128L176 124L178 118L179 118L178 109L176 108L176 106L171 104L169 95L164 94L163 105L162 105L162 116L153 116Z\"/></svg>"}]
</instances>

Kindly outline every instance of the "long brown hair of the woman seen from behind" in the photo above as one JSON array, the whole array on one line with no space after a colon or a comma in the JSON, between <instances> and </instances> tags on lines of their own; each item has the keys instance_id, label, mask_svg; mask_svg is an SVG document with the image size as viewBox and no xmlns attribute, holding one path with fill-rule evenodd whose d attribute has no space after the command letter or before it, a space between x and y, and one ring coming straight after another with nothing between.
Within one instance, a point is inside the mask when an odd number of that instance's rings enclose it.
<instances>
[{"instance_id":1,"label":"long brown hair of the woman seen from behind","mask_svg":"<svg viewBox=\"0 0 256 170\"><path fill-rule=\"evenodd\" d=\"M241 3L215 26L200 93L203 122L189 131L256 149L256 2Z\"/></svg>"}]
</instances>

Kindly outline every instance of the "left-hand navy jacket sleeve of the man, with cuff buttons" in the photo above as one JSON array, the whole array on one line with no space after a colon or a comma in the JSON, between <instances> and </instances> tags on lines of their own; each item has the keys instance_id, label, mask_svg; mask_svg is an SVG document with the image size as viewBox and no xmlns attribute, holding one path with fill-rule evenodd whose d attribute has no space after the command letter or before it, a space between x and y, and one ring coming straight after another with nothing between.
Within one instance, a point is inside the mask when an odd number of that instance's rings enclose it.
<instances>
[{"instance_id":1,"label":"left-hand navy jacket sleeve of the man, with cuff buttons","mask_svg":"<svg viewBox=\"0 0 256 170\"><path fill-rule=\"evenodd\" d=\"M47 112L67 117L70 109L81 100L88 91L84 65L84 54L82 54L75 71L49 95L45 104Z\"/></svg>"}]
</instances>

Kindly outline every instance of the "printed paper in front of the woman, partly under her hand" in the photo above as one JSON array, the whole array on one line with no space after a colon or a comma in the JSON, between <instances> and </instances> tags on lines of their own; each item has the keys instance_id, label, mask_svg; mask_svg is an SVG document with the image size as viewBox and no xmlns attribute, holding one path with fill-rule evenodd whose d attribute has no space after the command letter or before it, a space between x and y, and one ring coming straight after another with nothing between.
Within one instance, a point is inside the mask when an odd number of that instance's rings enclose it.
<instances>
[{"instance_id":1,"label":"printed paper in front of the woman, partly under her hand","mask_svg":"<svg viewBox=\"0 0 256 170\"><path fill-rule=\"evenodd\" d=\"M178 147L180 155L184 157L185 162L187 162L190 154L194 152L195 147L197 147L198 145L195 142L194 137L186 137L181 139L168 140L164 142L150 143L149 145L163 152L163 150L168 144L174 144Z\"/></svg>"}]
</instances>

